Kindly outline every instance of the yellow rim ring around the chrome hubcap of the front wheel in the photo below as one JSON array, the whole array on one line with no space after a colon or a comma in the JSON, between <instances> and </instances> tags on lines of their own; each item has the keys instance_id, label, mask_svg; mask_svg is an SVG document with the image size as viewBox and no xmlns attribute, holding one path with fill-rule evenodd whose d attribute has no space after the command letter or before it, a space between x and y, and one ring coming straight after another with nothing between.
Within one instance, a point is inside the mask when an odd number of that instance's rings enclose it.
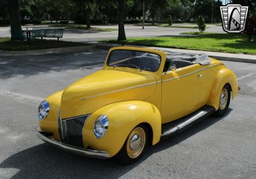
<instances>
[{"instance_id":1,"label":"yellow rim ring around the chrome hubcap of the front wheel","mask_svg":"<svg viewBox=\"0 0 256 179\"><path fill-rule=\"evenodd\" d=\"M140 137L140 145L136 150L131 149L131 139L134 135L138 135ZM127 146L126 146L127 155L132 159L139 157L145 147L145 141L146 141L146 134L143 128L141 127L134 128L127 139Z\"/></svg>"}]
</instances>

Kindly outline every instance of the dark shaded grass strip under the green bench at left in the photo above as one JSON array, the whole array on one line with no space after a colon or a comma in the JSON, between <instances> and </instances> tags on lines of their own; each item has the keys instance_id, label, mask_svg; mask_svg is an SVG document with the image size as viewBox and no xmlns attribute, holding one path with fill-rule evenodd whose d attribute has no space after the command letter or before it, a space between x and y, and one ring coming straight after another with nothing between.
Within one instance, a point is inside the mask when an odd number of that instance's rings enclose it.
<instances>
[{"instance_id":1,"label":"dark shaded grass strip under the green bench at left","mask_svg":"<svg viewBox=\"0 0 256 179\"><path fill-rule=\"evenodd\" d=\"M0 38L0 50L4 51L29 51L38 49L51 49L61 47L75 47L86 45L79 42L64 42L58 40L31 40L26 41L10 41L10 38Z\"/></svg>"}]
</instances>

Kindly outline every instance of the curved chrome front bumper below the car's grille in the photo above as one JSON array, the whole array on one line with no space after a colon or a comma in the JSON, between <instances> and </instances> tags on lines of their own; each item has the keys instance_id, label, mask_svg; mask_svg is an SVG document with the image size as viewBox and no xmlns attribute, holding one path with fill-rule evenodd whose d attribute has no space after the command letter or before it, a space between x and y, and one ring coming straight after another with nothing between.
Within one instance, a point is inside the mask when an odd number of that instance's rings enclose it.
<instances>
[{"instance_id":1,"label":"curved chrome front bumper below the car's grille","mask_svg":"<svg viewBox=\"0 0 256 179\"><path fill-rule=\"evenodd\" d=\"M108 152L79 148L76 146L71 146L69 144L61 143L60 141L56 141L45 136L39 129L36 129L36 134L40 139L45 141L45 143L49 143L56 148L65 150L66 152L75 153L77 155L83 155L85 157L92 157L97 159L108 159L110 157Z\"/></svg>"}]
</instances>

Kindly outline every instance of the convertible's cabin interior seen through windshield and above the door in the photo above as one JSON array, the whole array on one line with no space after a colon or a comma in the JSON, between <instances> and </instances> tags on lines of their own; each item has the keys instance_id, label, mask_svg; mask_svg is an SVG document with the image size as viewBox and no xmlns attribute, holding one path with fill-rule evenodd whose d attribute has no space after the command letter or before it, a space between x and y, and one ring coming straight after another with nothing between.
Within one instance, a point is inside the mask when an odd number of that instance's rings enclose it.
<instances>
[{"instance_id":1,"label":"convertible's cabin interior seen through windshield and above the door","mask_svg":"<svg viewBox=\"0 0 256 179\"><path fill-rule=\"evenodd\" d=\"M211 63L206 54L164 52L167 56L163 72L167 72L171 67L177 69L194 65L196 63L199 63L200 65L208 65ZM161 57L159 55L143 51L113 51L108 60L108 65L128 66L130 68L138 68L150 72L156 72L159 69L160 64Z\"/></svg>"}]
</instances>

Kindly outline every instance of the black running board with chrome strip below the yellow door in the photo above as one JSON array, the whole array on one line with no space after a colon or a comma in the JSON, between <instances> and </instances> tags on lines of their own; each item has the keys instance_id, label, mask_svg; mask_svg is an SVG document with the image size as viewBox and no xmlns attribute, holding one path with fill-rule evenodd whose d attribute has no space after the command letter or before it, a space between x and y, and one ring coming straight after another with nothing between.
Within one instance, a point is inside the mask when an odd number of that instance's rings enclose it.
<instances>
[{"instance_id":1,"label":"black running board with chrome strip below the yellow door","mask_svg":"<svg viewBox=\"0 0 256 179\"><path fill-rule=\"evenodd\" d=\"M173 136L174 134L177 134L178 132L181 132L182 130L190 127L193 123L200 121L207 116L210 116L214 112L215 107L205 105L204 107L198 109L198 111L195 111L188 116L180 118L179 120L172 121L170 123L163 124L161 139L166 139L170 136Z\"/></svg>"}]
</instances>

